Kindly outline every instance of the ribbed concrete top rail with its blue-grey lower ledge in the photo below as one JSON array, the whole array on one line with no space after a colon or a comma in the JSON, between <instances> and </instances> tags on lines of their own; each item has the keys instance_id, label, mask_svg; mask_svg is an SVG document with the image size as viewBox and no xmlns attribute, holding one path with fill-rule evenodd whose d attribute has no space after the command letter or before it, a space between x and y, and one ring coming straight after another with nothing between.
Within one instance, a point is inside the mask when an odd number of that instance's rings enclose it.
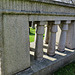
<instances>
[{"instance_id":1,"label":"ribbed concrete top rail with its blue-grey lower ledge","mask_svg":"<svg viewBox=\"0 0 75 75\"><path fill-rule=\"evenodd\" d=\"M2 11L21 11L38 14L67 14L75 12L75 5L51 0L1 0Z\"/></svg>"}]
</instances>

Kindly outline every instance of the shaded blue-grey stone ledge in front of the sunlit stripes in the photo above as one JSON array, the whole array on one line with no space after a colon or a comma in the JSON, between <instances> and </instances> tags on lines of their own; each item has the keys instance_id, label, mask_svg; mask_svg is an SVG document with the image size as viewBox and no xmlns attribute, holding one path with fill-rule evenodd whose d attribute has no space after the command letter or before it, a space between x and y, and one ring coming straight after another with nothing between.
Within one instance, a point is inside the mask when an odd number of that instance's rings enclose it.
<instances>
[{"instance_id":1,"label":"shaded blue-grey stone ledge in front of the sunlit stripes","mask_svg":"<svg viewBox=\"0 0 75 75\"><path fill-rule=\"evenodd\" d=\"M70 53L65 57L60 58L57 56L58 60L52 62L47 59L43 59L41 62L36 61L34 65L32 65L27 70L20 72L16 75L50 75L59 68L71 63L75 60L75 52Z\"/></svg>"}]
</instances>

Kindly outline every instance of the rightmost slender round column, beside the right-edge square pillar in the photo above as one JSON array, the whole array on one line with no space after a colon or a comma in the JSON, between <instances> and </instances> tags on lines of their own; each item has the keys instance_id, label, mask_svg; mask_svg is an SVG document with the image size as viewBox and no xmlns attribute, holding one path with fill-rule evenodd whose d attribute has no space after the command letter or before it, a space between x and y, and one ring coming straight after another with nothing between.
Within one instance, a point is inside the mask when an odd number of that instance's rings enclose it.
<instances>
[{"instance_id":1,"label":"rightmost slender round column, beside the right-edge square pillar","mask_svg":"<svg viewBox=\"0 0 75 75\"><path fill-rule=\"evenodd\" d=\"M67 36L69 23L71 23L71 21L66 21L63 23L62 32L61 32L59 45L58 45L58 51L64 52L64 50L65 50L66 36Z\"/></svg>"}]
</instances>

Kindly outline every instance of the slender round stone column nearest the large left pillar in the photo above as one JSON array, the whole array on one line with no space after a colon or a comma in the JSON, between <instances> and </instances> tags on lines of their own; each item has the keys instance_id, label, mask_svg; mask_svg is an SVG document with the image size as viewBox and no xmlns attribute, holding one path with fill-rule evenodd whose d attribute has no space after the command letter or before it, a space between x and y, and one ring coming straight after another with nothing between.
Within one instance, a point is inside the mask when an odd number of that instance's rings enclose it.
<instances>
[{"instance_id":1,"label":"slender round stone column nearest the large left pillar","mask_svg":"<svg viewBox=\"0 0 75 75\"><path fill-rule=\"evenodd\" d=\"M44 25L45 22L39 22L37 24L36 31L36 44L35 44L35 59L42 60L43 59L43 34L44 34Z\"/></svg>"}]
</instances>

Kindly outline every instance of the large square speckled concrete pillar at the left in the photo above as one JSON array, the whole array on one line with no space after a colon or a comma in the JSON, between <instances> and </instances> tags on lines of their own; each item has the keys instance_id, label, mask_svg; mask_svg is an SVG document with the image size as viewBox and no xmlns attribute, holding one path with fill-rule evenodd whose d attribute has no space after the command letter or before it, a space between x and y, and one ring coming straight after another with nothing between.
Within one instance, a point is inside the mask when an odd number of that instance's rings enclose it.
<instances>
[{"instance_id":1,"label":"large square speckled concrete pillar at the left","mask_svg":"<svg viewBox=\"0 0 75 75\"><path fill-rule=\"evenodd\" d=\"M3 15L2 75L30 67L28 16Z\"/></svg>"}]
</instances>

